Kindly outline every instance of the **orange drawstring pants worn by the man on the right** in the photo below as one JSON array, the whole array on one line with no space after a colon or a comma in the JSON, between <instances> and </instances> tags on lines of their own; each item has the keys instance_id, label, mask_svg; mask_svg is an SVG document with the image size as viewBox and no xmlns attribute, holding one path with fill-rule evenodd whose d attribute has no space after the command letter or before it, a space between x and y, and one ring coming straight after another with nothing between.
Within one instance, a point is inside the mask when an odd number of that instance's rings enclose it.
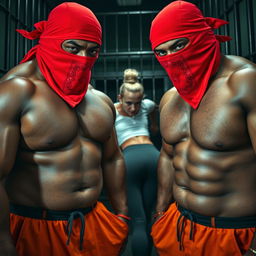
<instances>
[{"instance_id":1,"label":"orange drawstring pants worn by the man on the right","mask_svg":"<svg viewBox=\"0 0 256 256\"><path fill-rule=\"evenodd\" d=\"M173 203L152 226L151 235L160 256L241 256L249 249L256 231L256 217L254 220L249 217L252 227L218 228L191 222L180 216ZM182 234L180 242L177 233Z\"/></svg>"}]
</instances>

